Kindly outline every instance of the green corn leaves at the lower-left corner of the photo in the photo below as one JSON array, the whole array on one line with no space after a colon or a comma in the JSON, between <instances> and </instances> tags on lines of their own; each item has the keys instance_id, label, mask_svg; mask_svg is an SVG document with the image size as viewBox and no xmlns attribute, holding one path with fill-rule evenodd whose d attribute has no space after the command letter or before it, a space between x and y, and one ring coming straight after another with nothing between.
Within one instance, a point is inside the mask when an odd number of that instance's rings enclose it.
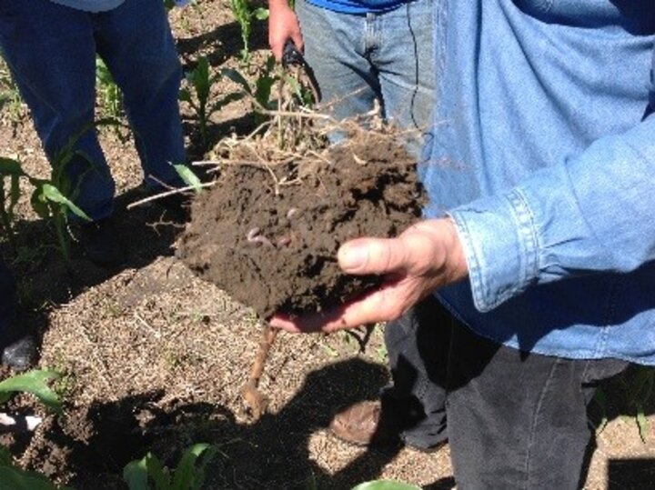
<instances>
[{"instance_id":1,"label":"green corn leaves at the lower-left corner of the photo","mask_svg":"<svg viewBox=\"0 0 655 490\"><path fill-rule=\"evenodd\" d=\"M61 413L61 401L48 386L48 382L58 379L55 371L35 370L23 375L15 375L0 383L0 405L4 405L15 393L29 393L56 414ZM26 471L15 466L9 449L0 446L0 488L12 490L71 490L69 487L57 486L45 475Z\"/></svg>"}]
</instances>

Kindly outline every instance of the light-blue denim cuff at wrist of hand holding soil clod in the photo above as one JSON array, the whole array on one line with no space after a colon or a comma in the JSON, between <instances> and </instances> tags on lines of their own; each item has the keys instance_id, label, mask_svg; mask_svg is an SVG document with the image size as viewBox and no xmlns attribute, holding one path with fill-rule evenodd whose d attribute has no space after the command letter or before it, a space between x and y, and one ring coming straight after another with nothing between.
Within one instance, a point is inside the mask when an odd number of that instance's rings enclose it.
<instances>
[{"instance_id":1,"label":"light-blue denim cuff at wrist of hand holding soil clod","mask_svg":"<svg viewBox=\"0 0 655 490\"><path fill-rule=\"evenodd\" d=\"M457 226L473 302L480 312L495 308L537 280L536 227L518 189L461 205L448 215Z\"/></svg>"}]
</instances>

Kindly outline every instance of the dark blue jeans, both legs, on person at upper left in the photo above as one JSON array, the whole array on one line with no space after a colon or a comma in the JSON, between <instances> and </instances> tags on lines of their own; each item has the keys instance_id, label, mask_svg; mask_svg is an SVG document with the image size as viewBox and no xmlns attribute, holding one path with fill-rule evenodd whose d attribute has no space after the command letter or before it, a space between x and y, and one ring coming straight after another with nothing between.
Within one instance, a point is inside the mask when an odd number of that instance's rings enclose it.
<instances>
[{"instance_id":1,"label":"dark blue jeans, both legs, on person at upper left","mask_svg":"<svg viewBox=\"0 0 655 490\"><path fill-rule=\"evenodd\" d=\"M170 162L186 158L177 103L182 72L161 0L126 0L98 14L49 0L3 0L0 49L51 164L77 138L65 173L76 205L92 218L112 213L115 194L93 125L96 54L123 91L146 185L181 184Z\"/></svg>"}]
</instances>

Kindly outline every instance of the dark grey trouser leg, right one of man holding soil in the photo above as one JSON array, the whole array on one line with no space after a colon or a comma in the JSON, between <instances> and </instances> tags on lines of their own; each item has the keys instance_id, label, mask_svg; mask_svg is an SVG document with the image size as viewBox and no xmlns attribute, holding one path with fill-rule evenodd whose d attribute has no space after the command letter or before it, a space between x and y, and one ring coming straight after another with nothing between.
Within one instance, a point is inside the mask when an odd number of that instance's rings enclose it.
<instances>
[{"instance_id":1,"label":"dark grey trouser leg, right one of man holding soil","mask_svg":"<svg viewBox=\"0 0 655 490\"><path fill-rule=\"evenodd\" d=\"M577 488L595 382L626 366L525 354L454 325L446 406L458 486Z\"/></svg>"}]
</instances>

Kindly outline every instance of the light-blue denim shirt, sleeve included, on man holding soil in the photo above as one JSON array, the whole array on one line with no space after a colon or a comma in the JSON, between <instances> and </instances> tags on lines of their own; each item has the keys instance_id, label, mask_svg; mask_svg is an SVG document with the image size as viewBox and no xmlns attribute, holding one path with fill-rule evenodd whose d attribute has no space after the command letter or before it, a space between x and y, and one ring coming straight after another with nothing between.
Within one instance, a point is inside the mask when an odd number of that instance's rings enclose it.
<instances>
[{"instance_id":1,"label":"light-blue denim shirt, sleeve included, on man holding soil","mask_svg":"<svg viewBox=\"0 0 655 490\"><path fill-rule=\"evenodd\" d=\"M655 1L436 0L426 215L451 215L471 329L655 365Z\"/></svg>"}]
</instances>

